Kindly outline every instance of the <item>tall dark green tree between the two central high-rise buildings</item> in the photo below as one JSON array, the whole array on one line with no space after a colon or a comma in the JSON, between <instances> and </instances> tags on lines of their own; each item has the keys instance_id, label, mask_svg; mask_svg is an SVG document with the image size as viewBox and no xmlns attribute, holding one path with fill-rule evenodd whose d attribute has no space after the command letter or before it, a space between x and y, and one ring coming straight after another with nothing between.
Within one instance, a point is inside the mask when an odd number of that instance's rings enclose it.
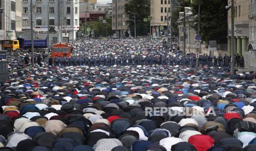
<instances>
[{"instance_id":1,"label":"tall dark green tree between the two central high-rise buildings","mask_svg":"<svg viewBox=\"0 0 256 151\"><path fill-rule=\"evenodd\" d=\"M154 0L155 1L155 0ZM126 14L129 15L130 32L134 36L134 14L136 17L136 34L137 36L145 36L150 32L150 22L144 22L144 18L150 16L150 0L131 0L125 5ZM132 11L133 13L129 13Z\"/></svg>"}]
</instances>

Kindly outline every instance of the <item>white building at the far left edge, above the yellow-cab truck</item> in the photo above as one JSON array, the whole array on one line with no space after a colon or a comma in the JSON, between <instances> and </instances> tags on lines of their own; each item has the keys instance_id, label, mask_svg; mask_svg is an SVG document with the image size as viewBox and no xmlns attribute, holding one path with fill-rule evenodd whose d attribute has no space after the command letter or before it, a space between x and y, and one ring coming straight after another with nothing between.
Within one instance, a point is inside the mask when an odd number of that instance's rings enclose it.
<instances>
[{"instance_id":1,"label":"white building at the far left edge, above the yellow-cab truck","mask_svg":"<svg viewBox=\"0 0 256 151\"><path fill-rule=\"evenodd\" d=\"M0 41L15 39L21 31L21 0L2 0L0 8ZM1 42L0 42L1 43Z\"/></svg>"}]
</instances>

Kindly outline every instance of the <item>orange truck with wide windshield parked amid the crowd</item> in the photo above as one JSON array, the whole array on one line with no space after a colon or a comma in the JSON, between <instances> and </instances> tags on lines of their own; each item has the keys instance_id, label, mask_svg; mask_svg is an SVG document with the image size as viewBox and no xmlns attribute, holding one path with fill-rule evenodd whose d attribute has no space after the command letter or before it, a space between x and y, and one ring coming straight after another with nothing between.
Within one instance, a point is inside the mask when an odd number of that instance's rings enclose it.
<instances>
[{"instance_id":1,"label":"orange truck with wide windshield parked amid the crowd","mask_svg":"<svg viewBox=\"0 0 256 151\"><path fill-rule=\"evenodd\" d=\"M52 46L51 57L70 57L71 47L69 44L59 43Z\"/></svg>"}]
</instances>

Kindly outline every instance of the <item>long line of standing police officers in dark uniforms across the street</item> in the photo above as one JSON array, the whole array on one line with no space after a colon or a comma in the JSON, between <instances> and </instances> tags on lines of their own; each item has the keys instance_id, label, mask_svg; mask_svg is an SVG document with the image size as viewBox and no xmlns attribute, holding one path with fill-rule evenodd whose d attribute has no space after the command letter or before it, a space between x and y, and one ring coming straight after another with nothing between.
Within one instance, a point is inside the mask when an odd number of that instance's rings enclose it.
<instances>
[{"instance_id":1,"label":"long line of standing police officers in dark uniforms across the street","mask_svg":"<svg viewBox=\"0 0 256 151\"><path fill-rule=\"evenodd\" d=\"M51 62L54 66L137 66L137 65L184 65L195 67L195 55L121 55L121 56L90 56L90 57L56 57ZM209 56L204 54L199 57L200 65L230 66L230 57ZM50 63L51 65L51 63Z\"/></svg>"}]
</instances>

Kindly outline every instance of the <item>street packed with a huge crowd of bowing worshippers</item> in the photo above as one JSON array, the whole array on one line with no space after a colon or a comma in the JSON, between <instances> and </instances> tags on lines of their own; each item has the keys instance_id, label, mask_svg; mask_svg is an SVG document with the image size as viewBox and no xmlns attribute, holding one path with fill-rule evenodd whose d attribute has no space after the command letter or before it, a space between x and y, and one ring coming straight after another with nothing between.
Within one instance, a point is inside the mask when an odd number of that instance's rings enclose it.
<instances>
[{"instance_id":1,"label":"street packed with a huge crowd of bowing worshippers","mask_svg":"<svg viewBox=\"0 0 256 151\"><path fill-rule=\"evenodd\" d=\"M36 63L33 68L31 61L26 66L27 55L17 60L9 53L12 74L0 88L2 147L254 147L254 72L231 75L228 67L207 62L193 68L194 60L183 59L195 54L183 56L149 39L80 40L70 60L53 60L53 66Z\"/></svg>"}]
</instances>

